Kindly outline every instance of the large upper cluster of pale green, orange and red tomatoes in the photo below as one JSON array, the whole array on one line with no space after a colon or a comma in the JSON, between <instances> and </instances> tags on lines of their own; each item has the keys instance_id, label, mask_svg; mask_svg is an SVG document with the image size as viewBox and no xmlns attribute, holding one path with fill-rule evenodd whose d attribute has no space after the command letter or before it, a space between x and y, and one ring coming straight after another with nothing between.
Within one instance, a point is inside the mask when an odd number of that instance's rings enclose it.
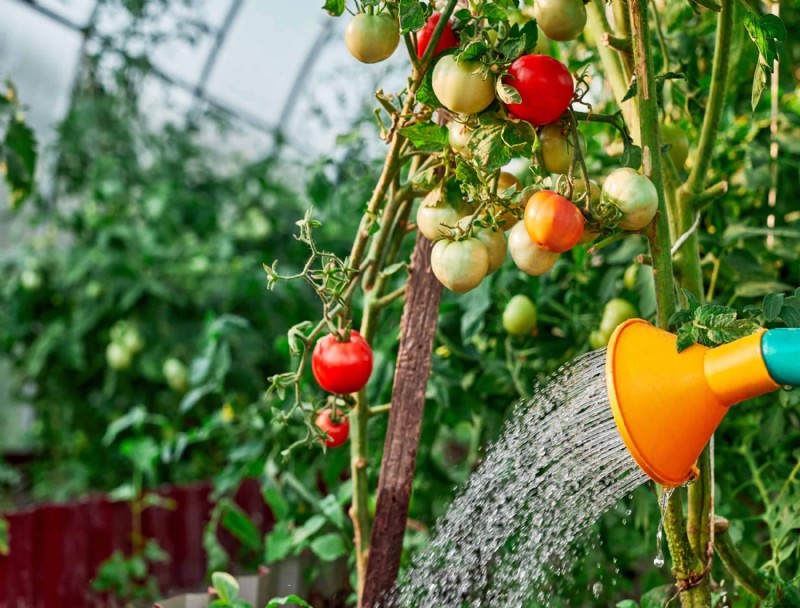
<instances>
[{"instance_id":1,"label":"large upper cluster of pale green, orange and red tomatoes","mask_svg":"<svg viewBox=\"0 0 800 608\"><path fill-rule=\"evenodd\" d=\"M581 0L537 0L533 17L551 40L572 40L586 25ZM417 32L419 57L424 56L440 20L441 15L434 13ZM398 40L397 24L385 13L356 15L347 30L348 48L367 62L391 55ZM449 111L446 115L452 116L448 135L453 152L473 160L473 117L487 110L497 99L497 91L508 85L515 94L513 99L506 97L503 106L510 120L524 120L538 129L541 168L550 174L568 173L580 137L574 137L574 127L562 121L575 96L567 67L548 55L525 54L499 70L498 83L494 71L480 61L458 60L457 55L445 53L458 46L458 35L448 23L434 51L438 59L431 77L434 94ZM563 186L564 180L560 183ZM514 176L499 175L497 196L513 197L520 190L522 184ZM465 293L494 272L507 251L520 270L538 276L553 267L559 254L594 240L602 229L643 228L658 208L652 182L629 168L614 171L602 190L585 180L573 180L560 190L539 190L524 201L478 208L447 184L435 188L421 202L416 219L420 232L436 242L431 260L436 277L448 289Z\"/></svg>"}]
</instances>

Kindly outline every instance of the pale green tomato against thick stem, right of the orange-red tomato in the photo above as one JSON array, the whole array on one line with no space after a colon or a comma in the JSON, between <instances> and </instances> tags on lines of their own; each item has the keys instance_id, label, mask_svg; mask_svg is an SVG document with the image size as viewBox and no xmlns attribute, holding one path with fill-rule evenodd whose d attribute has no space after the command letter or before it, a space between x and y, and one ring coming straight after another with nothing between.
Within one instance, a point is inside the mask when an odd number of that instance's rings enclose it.
<instances>
[{"instance_id":1,"label":"pale green tomato against thick stem, right of the orange-red tomato","mask_svg":"<svg viewBox=\"0 0 800 608\"><path fill-rule=\"evenodd\" d=\"M653 182L630 167L617 169L606 178L601 198L603 205L622 212L619 227L623 230L644 228L658 211L658 192Z\"/></svg>"}]
</instances>

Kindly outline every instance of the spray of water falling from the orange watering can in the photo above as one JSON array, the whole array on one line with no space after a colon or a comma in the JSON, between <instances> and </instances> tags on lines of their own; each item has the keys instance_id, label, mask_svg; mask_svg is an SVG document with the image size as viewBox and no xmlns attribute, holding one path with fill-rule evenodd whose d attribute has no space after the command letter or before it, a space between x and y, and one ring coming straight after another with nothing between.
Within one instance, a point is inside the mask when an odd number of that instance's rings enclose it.
<instances>
[{"instance_id":1,"label":"spray of water falling from the orange watering can","mask_svg":"<svg viewBox=\"0 0 800 608\"><path fill-rule=\"evenodd\" d=\"M503 435L385 604L548 604L553 581L577 557L574 541L646 480L614 423L605 350L579 357L515 406Z\"/></svg>"}]
</instances>

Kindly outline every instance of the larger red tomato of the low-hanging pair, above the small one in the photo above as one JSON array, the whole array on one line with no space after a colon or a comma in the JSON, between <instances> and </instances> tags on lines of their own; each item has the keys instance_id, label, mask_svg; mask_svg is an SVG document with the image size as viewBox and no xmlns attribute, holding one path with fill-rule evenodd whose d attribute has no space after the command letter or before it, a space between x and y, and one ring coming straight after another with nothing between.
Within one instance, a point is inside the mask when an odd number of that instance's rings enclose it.
<instances>
[{"instance_id":1,"label":"larger red tomato of the low-hanging pair, above the small one","mask_svg":"<svg viewBox=\"0 0 800 608\"><path fill-rule=\"evenodd\" d=\"M372 373L372 349L357 331L350 332L347 342L328 334L314 347L311 371L329 393L357 393L366 386Z\"/></svg>"}]
</instances>

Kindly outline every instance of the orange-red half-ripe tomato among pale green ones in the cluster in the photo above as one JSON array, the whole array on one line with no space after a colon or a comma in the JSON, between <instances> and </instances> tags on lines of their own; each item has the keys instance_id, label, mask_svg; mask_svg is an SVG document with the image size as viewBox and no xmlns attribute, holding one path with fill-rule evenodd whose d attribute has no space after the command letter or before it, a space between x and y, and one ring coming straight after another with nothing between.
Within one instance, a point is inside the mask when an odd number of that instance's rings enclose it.
<instances>
[{"instance_id":1,"label":"orange-red half-ripe tomato among pale green ones in the cluster","mask_svg":"<svg viewBox=\"0 0 800 608\"><path fill-rule=\"evenodd\" d=\"M583 236L585 222L580 209L552 190L541 190L525 205L525 229L542 249L562 253Z\"/></svg>"}]
</instances>

